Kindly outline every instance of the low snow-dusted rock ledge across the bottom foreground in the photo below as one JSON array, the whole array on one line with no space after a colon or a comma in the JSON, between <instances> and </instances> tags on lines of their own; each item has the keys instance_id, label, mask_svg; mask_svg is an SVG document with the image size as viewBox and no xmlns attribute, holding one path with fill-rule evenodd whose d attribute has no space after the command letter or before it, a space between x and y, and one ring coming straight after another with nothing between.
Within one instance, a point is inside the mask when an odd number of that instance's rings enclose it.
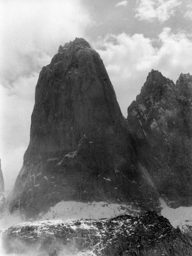
<instances>
[{"instance_id":1,"label":"low snow-dusted rock ledge across the bottom foreground","mask_svg":"<svg viewBox=\"0 0 192 256\"><path fill-rule=\"evenodd\" d=\"M35 256L191 256L192 239L154 211L100 220L52 220L17 224L3 233L6 253ZM35 249L34 249L35 248Z\"/></svg>"}]
</instances>

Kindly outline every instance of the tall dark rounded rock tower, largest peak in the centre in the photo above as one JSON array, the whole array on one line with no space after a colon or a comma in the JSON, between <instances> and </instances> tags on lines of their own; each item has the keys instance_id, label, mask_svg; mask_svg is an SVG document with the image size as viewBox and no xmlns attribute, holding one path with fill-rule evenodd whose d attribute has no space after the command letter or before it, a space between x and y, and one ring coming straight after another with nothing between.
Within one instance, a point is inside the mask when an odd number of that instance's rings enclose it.
<instances>
[{"instance_id":1,"label":"tall dark rounded rock tower, largest peak in the centre","mask_svg":"<svg viewBox=\"0 0 192 256\"><path fill-rule=\"evenodd\" d=\"M30 217L62 200L150 209L158 195L138 164L99 54L82 38L60 46L38 79L11 210Z\"/></svg>"}]
</instances>

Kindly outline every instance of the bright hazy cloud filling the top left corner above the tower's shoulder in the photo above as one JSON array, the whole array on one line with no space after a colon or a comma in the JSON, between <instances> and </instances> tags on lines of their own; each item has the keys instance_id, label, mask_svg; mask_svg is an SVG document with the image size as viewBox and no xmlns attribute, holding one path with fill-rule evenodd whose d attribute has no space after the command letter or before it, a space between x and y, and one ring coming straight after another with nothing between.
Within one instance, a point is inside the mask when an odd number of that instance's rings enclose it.
<instances>
[{"instance_id":1,"label":"bright hazy cloud filling the top left corner above the tower's shoulder","mask_svg":"<svg viewBox=\"0 0 192 256\"><path fill-rule=\"evenodd\" d=\"M84 36L91 23L80 0L1 1L0 70L5 86L47 64L71 38ZM11 72L11 74L10 74Z\"/></svg>"}]
</instances>

